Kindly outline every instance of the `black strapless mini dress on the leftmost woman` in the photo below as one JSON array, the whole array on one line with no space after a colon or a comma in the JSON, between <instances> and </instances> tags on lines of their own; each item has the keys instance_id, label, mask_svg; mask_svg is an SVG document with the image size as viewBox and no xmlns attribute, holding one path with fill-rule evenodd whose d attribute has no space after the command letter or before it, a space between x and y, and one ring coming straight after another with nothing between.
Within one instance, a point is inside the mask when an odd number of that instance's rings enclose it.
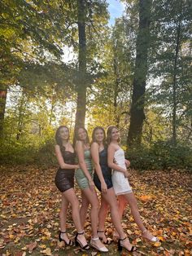
<instances>
[{"instance_id":1,"label":"black strapless mini dress on the leftmost woman","mask_svg":"<svg viewBox=\"0 0 192 256\"><path fill-rule=\"evenodd\" d=\"M63 160L68 165L75 165L76 153L64 151L62 152ZM74 188L75 169L61 169L56 173L55 185L60 192L65 192L69 188Z\"/></svg>"}]
</instances>

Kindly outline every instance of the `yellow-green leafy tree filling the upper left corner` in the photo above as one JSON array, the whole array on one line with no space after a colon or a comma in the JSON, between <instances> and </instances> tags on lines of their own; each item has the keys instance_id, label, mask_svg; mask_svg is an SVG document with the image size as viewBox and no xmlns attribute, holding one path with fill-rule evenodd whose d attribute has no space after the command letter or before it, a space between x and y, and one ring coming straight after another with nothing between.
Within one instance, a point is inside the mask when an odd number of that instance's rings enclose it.
<instances>
[{"instance_id":1,"label":"yellow-green leafy tree filling the upper left corner","mask_svg":"<svg viewBox=\"0 0 192 256\"><path fill-rule=\"evenodd\" d=\"M69 1L0 2L1 95L6 95L7 87L16 82L26 60L37 63L45 62L47 56L55 61L61 57L62 46L71 42L71 16ZM6 97L1 96L1 131L5 105Z\"/></svg>"}]
</instances>

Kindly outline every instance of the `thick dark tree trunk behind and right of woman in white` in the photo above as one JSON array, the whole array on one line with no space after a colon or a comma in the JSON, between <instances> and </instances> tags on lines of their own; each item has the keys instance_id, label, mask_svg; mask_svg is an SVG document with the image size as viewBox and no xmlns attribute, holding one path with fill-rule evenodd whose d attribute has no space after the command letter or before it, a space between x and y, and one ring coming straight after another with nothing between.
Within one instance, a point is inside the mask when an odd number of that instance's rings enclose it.
<instances>
[{"instance_id":1,"label":"thick dark tree trunk behind and right of woman in white","mask_svg":"<svg viewBox=\"0 0 192 256\"><path fill-rule=\"evenodd\" d=\"M147 53L150 42L151 0L139 1L139 27L137 33L136 62L133 77L133 94L128 134L129 147L139 147L142 142L142 126L145 119Z\"/></svg>"}]
</instances>

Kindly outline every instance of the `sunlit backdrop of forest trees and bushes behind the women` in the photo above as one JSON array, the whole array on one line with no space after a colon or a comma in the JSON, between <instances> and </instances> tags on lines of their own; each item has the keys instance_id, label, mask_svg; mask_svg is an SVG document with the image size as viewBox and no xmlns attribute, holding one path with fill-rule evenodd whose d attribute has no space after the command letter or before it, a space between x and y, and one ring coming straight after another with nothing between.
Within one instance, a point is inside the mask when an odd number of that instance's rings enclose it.
<instances>
[{"instance_id":1,"label":"sunlit backdrop of forest trees and bushes behind the women","mask_svg":"<svg viewBox=\"0 0 192 256\"><path fill-rule=\"evenodd\" d=\"M0 162L55 164L55 130L116 125L132 166L192 166L191 4L0 3Z\"/></svg>"}]
</instances>

